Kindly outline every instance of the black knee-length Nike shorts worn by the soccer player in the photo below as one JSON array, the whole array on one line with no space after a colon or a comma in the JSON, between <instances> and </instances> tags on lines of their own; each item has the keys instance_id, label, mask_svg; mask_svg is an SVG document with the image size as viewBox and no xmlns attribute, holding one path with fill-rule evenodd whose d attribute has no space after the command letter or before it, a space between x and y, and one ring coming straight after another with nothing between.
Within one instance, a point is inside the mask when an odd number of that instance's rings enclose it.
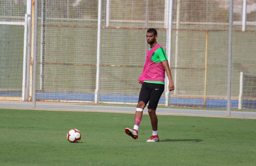
<instances>
[{"instance_id":1,"label":"black knee-length Nike shorts worn by the soccer player","mask_svg":"<svg viewBox=\"0 0 256 166\"><path fill-rule=\"evenodd\" d=\"M159 99L165 90L164 84L144 82L141 86L139 101L148 104L148 109L156 110Z\"/></svg>"}]
</instances>

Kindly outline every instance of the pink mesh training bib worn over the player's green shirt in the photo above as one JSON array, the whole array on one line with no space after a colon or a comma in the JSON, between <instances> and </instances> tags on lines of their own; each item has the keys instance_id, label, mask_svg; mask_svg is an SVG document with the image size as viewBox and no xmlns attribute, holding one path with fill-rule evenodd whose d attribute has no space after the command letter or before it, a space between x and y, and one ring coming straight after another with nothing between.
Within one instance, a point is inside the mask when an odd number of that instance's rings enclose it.
<instances>
[{"instance_id":1,"label":"pink mesh training bib worn over the player's green shirt","mask_svg":"<svg viewBox=\"0 0 256 166\"><path fill-rule=\"evenodd\" d=\"M147 49L147 57L143 68L143 72L140 78L138 79L141 84L143 84L143 81L165 82L165 68L162 62L155 63L151 60L151 55L160 47L162 47L162 45L157 44L151 50Z\"/></svg>"}]
</instances>

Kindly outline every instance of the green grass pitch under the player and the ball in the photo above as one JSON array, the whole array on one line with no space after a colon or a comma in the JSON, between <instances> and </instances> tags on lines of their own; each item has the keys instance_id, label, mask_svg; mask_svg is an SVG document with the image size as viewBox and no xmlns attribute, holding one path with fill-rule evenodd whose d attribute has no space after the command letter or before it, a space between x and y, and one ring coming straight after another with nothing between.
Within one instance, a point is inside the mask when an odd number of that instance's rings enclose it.
<instances>
[{"instance_id":1,"label":"green grass pitch under the player and the ball","mask_svg":"<svg viewBox=\"0 0 256 166\"><path fill-rule=\"evenodd\" d=\"M144 115L0 109L0 165L256 165L256 120L158 116L160 142ZM79 143L66 139L81 131Z\"/></svg>"}]
</instances>

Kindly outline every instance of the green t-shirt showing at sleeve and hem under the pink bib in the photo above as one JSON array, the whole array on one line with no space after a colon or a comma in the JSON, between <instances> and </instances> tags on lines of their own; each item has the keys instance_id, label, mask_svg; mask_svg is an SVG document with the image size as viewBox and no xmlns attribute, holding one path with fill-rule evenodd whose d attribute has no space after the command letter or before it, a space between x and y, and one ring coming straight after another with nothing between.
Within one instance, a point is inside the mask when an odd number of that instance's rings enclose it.
<instances>
[{"instance_id":1,"label":"green t-shirt showing at sleeve and hem under the pink bib","mask_svg":"<svg viewBox=\"0 0 256 166\"><path fill-rule=\"evenodd\" d=\"M151 50L151 47L149 47L148 50ZM159 47L152 55L151 60L155 63L163 62L167 60L166 52L162 47ZM155 84L165 84L162 81L144 81L148 83L155 83Z\"/></svg>"}]
</instances>

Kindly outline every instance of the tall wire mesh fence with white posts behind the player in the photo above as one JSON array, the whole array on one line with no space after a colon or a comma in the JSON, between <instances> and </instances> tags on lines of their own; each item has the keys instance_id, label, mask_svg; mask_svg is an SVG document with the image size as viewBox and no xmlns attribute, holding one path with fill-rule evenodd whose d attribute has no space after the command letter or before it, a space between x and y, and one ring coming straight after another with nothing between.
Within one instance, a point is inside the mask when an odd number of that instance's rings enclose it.
<instances>
[{"instance_id":1,"label":"tall wire mesh fence with white posts behind the player","mask_svg":"<svg viewBox=\"0 0 256 166\"><path fill-rule=\"evenodd\" d=\"M156 28L157 42L166 49L176 88L163 93L159 108L227 108L229 0L38 0L37 6L31 0L0 3L0 99L8 103L1 107L29 108L32 102L25 101L35 101L38 109L86 109L90 105L91 110L98 106L115 110L136 104L141 87L137 79L149 47L146 31ZM33 11L38 15L37 33L33 32ZM31 22L25 21L26 12ZM231 108L238 109L240 72L256 73L256 2L233 0L232 16ZM9 22L24 22L25 27L32 24L32 31L28 28L26 32L26 48L31 50L26 59L24 26ZM37 41L33 41L34 35ZM23 102L13 105L16 102L6 99ZM251 110L256 108L255 100L247 102Z\"/></svg>"}]
</instances>

